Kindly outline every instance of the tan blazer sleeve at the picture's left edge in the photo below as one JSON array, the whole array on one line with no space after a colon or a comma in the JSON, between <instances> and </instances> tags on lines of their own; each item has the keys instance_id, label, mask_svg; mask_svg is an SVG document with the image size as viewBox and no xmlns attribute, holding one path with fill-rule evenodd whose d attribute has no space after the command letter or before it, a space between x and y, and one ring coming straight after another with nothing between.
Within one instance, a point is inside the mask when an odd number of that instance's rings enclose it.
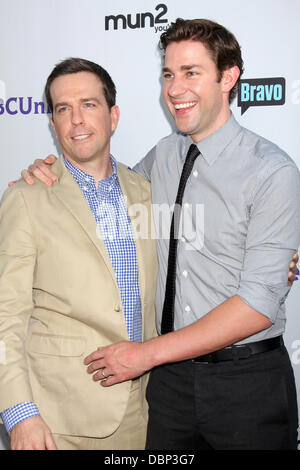
<instances>
[{"instance_id":1,"label":"tan blazer sleeve at the picture's left edge","mask_svg":"<svg viewBox=\"0 0 300 470\"><path fill-rule=\"evenodd\" d=\"M9 188L0 205L0 411L34 401L26 338L35 262L36 243L24 196L19 188Z\"/></svg>"}]
</instances>

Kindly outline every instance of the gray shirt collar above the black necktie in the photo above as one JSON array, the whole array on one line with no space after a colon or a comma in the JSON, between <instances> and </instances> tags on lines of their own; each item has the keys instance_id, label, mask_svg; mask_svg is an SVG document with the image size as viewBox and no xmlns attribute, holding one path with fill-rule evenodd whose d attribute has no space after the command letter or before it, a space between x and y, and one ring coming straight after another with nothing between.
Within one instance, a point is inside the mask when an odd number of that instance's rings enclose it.
<instances>
[{"instance_id":1,"label":"gray shirt collar above the black necktie","mask_svg":"<svg viewBox=\"0 0 300 470\"><path fill-rule=\"evenodd\" d=\"M239 134L240 131L241 126L235 120L233 114L231 114L228 121L226 121L226 123L220 129L196 144L204 160L208 163L209 166L215 163L221 153ZM192 139L189 137L186 151L192 143Z\"/></svg>"}]
</instances>

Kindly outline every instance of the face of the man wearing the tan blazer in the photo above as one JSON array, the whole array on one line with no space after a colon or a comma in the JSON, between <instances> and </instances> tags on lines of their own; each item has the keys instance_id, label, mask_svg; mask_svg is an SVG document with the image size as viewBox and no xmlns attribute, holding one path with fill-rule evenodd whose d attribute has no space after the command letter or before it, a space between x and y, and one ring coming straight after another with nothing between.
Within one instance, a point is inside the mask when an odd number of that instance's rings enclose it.
<instances>
[{"instance_id":1,"label":"face of the man wearing the tan blazer","mask_svg":"<svg viewBox=\"0 0 300 470\"><path fill-rule=\"evenodd\" d=\"M64 156L75 164L108 162L119 109L109 109L99 78L91 72L61 75L53 80L50 93L51 121Z\"/></svg>"}]
</instances>

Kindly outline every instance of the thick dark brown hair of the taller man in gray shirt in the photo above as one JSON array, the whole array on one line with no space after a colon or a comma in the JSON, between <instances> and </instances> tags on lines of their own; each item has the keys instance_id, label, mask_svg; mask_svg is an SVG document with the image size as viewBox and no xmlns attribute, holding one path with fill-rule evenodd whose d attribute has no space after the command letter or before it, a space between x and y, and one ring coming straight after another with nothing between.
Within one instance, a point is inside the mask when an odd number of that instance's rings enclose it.
<instances>
[{"instance_id":1,"label":"thick dark brown hair of the taller man in gray shirt","mask_svg":"<svg viewBox=\"0 0 300 470\"><path fill-rule=\"evenodd\" d=\"M167 31L161 35L160 47L165 51L170 43L187 40L200 41L206 47L216 64L219 81L223 72L235 65L240 69L240 77L242 76L244 64L240 45L234 35L224 26L205 19L177 18L175 23L171 23ZM230 103L237 94L240 77L230 91Z\"/></svg>"}]
</instances>

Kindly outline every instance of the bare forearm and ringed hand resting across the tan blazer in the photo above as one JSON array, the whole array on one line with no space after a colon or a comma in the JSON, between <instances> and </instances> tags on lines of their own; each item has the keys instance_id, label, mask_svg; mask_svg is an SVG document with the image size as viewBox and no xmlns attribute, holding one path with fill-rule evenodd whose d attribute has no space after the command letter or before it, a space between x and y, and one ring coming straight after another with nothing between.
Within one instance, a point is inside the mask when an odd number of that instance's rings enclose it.
<instances>
[{"instance_id":1,"label":"bare forearm and ringed hand resting across the tan blazer","mask_svg":"<svg viewBox=\"0 0 300 470\"><path fill-rule=\"evenodd\" d=\"M217 351L270 326L266 316L234 296L190 326L145 343L122 341L100 347L84 363L90 374L96 372L93 380L101 380L104 387L109 387L139 377L161 364Z\"/></svg>"}]
</instances>

